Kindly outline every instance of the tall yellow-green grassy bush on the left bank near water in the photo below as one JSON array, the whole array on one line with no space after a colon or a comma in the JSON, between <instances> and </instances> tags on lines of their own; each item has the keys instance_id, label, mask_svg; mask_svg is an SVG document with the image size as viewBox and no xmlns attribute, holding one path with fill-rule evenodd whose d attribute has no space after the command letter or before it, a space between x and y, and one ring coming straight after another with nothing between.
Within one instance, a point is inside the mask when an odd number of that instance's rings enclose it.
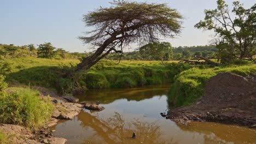
<instances>
[{"instance_id":1,"label":"tall yellow-green grassy bush on the left bank near water","mask_svg":"<svg viewBox=\"0 0 256 144\"><path fill-rule=\"evenodd\" d=\"M53 109L50 99L40 98L36 90L8 88L0 97L0 123L37 129L49 121Z\"/></svg>"}]
</instances>

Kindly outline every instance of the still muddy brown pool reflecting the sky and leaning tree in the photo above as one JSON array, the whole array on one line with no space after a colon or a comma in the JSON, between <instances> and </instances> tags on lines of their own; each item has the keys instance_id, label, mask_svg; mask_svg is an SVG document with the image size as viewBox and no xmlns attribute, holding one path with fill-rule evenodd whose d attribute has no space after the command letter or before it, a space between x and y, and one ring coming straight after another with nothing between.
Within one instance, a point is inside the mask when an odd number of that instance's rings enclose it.
<instances>
[{"instance_id":1,"label":"still muddy brown pool reflecting the sky and leaning tree","mask_svg":"<svg viewBox=\"0 0 256 144\"><path fill-rule=\"evenodd\" d=\"M83 110L51 129L67 143L256 143L256 129L219 123L177 125L160 115L167 112L170 86L91 90L80 101L100 101L101 112ZM132 133L136 139L132 139Z\"/></svg>"}]
</instances>

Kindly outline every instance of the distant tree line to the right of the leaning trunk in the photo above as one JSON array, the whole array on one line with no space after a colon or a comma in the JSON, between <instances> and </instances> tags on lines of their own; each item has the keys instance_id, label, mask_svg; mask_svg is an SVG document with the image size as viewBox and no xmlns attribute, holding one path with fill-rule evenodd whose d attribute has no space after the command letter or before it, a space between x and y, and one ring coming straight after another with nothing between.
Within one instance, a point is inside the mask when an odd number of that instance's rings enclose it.
<instances>
[{"instance_id":1,"label":"distant tree line to the right of the leaning trunk","mask_svg":"<svg viewBox=\"0 0 256 144\"><path fill-rule=\"evenodd\" d=\"M164 42L166 43L166 42ZM137 51L124 52L121 57L123 60L142 60L142 61L179 61L182 59L195 59L196 56L202 56L210 59L216 59L218 56L218 49L215 45L205 45L205 46L179 46L172 47L170 43L167 48L161 47L161 49L154 48L153 50L146 49L146 47L153 46L153 44L148 44L142 46ZM156 50L158 52L156 52ZM112 53L107 56L107 59L119 60L120 55Z\"/></svg>"}]
</instances>

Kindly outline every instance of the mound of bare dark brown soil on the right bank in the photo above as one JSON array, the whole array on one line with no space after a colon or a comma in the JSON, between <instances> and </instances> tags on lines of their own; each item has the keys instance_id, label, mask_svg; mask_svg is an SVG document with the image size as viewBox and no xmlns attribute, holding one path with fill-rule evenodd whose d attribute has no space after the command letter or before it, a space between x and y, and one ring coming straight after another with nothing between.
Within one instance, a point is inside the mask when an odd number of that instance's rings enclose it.
<instances>
[{"instance_id":1,"label":"mound of bare dark brown soil on the right bank","mask_svg":"<svg viewBox=\"0 0 256 144\"><path fill-rule=\"evenodd\" d=\"M207 121L255 127L256 75L220 73L213 76L197 103L170 110L167 118L180 124Z\"/></svg>"}]
</instances>

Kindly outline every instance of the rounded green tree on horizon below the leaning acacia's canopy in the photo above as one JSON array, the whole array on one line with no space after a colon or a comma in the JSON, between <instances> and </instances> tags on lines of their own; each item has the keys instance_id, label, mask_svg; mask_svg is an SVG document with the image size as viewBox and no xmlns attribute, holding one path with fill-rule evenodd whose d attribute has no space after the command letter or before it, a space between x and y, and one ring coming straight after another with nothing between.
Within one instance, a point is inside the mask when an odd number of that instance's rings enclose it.
<instances>
[{"instance_id":1,"label":"rounded green tree on horizon below the leaning acacia's canopy","mask_svg":"<svg viewBox=\"0 0 256 144\"><path fill-rule=\"evenodd\" d=\"M168 61L172 58L172 45L167 42L162 43L149 43L139 48L139 53L142 57L152 56L155 60Z\"/></svg>"}]
</instances>

